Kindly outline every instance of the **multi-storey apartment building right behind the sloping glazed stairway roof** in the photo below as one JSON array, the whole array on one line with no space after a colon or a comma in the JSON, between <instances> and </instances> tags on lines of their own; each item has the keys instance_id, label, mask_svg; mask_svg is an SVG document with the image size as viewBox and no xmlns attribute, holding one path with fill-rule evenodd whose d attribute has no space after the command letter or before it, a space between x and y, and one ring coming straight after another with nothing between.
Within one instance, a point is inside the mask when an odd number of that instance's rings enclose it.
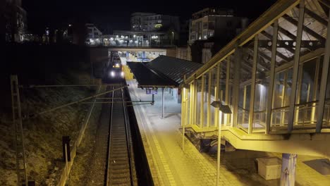
<instances>
[{"instance_id":1,"label":"multi-storey apartment building right behind the sloping glazed stairway roof","mask_svg":"<svg viewBox=\"0 0 330 186\"><path fill-rule=\"evenodd\" d=\"M206 63L216 51L247 27L247 23L247 18L235 16L231 9L204 8L193 13L188 56L195 62Z\"/></svg>"}]
</instances>

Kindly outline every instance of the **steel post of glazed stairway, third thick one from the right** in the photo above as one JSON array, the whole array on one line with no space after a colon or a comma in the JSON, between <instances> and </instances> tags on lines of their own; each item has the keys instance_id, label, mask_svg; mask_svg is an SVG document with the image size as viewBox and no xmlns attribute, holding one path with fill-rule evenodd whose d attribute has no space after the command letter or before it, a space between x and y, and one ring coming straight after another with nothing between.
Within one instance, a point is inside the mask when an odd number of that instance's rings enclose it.
<instances>
[{"instance_id":1,"label":"steel post of glazed stairway, third thick one from the right","mask_svg":"<svg viewBox=\"0 0 330 186\"><path fill-rule=\"evenodd\" d=\"M271 45L271 70L269 78L269 91L267 100L267 116L266 116L266 129L265 133L268 134L271 126L271 105L273 103L274 92L274 79L275 79L275 65L276 65L276 44L279 32L279 20L274 21L273 27L273 40Z\"/></svg>"}]
</instances>

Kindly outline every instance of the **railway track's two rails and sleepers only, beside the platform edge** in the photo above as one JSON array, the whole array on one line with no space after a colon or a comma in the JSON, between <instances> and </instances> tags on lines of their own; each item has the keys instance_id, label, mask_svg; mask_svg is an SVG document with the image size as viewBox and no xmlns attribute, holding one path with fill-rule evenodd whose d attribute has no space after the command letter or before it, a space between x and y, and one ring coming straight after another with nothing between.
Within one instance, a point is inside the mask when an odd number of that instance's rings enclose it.
<instances>
[{"instance_id":1,"label":"railway track's two rails and sleepers only, beside the platform edge","mask_svg":"<svg viewBox=\"0 0 330 186\"><path fill-rule=\"evenodd\" d=\"M115 99L116 98L116 99ZM130 132L123 89L112 94L106 185L133 185Z\"/></svg>"}]
</instances>

